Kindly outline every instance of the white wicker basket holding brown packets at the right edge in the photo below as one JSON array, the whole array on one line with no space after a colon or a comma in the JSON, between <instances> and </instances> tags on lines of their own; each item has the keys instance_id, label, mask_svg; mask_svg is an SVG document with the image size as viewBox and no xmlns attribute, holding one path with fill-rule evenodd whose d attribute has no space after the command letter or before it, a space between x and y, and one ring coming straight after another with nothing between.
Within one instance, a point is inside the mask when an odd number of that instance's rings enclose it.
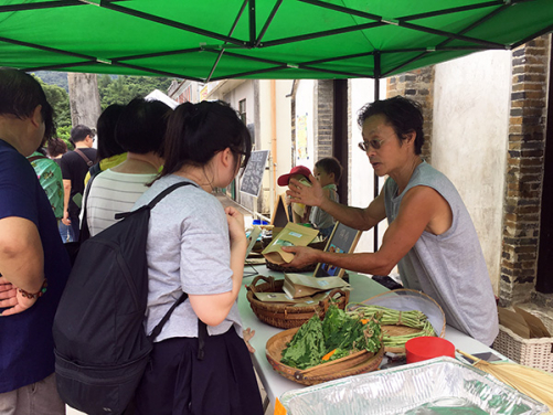
<instances>
[{"instance_id":1,"label":"white wicker basket holding brown packets at the right edge","mask_svg":"<svg viewBox=\"0 0 553 415\"><path fill-rule=\"evenodd\" d=\"M492 349L525 366L553 372L553 338L523 339L499 324Z\"/></svg>"}]
</instances>

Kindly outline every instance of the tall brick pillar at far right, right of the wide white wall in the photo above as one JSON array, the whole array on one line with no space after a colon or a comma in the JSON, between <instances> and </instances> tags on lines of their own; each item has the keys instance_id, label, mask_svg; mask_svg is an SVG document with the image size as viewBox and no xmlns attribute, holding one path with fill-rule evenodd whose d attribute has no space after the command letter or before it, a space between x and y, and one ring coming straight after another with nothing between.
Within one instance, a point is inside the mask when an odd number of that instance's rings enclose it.
<instances>
[{"instance_id":1,"label":"tall brick pillar at far right, right of the wide white wall","mask_svg":"<svg viewBox=\"0 0 553 415\"><path fill-rule=\"evenodd\" d=\"M535 285L550 42L544 35L512 52L501 306L529 300Z\"/></svg>"}]
</instances>

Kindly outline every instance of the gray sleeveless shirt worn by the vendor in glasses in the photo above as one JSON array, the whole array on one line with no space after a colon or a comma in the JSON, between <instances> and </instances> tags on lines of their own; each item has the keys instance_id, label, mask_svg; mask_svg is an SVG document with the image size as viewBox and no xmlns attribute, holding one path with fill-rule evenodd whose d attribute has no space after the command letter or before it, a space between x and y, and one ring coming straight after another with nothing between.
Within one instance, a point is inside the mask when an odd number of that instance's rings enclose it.
<instances>
[{"instance_id":1,"label":"gray sleeveless shirt worn by the vendor in glasses","mask_svg":"<svg viewBox=\"0 0 553 415\"><path fill-rule=\"evenodd\" d=\"M496 299L475 225L449 179L423 162L397 194L397 184L389 178L384 184L389 223L397 216L405 193L417 185L436 190L447 201L453 223L442 235L423 232L400 260L403 285L434 298L448 324L490 345L499 332Z\"/></svg>"}]
</instances>

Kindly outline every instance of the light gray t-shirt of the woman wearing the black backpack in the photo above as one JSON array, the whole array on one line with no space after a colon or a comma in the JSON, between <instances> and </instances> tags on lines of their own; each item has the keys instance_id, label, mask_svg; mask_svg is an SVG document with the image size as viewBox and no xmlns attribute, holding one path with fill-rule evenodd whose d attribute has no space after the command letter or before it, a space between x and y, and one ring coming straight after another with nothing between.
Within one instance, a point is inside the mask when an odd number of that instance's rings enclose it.
<instances>
[{"instance_id":1,"label":"light gray t-shirt of the woman wearing the black backpack","mask_svg":"<svg viewBox=\"0 0 553 415\"><path fill-rule=\"evenodd\" d=\"M135 209L180 181L191 182L178 175L157 180L138 199ZM228 224L221 202L196 185L182 187L167 195L151 211L147 256L149 334L182 291L210 295L232 289ZM236 302L221 324L208 326L208 333L223 334L231 326L242 337ZM156 341L177 337L198 337L198 317L188 299L177 307Z\"/></svg>"}]
</instances>

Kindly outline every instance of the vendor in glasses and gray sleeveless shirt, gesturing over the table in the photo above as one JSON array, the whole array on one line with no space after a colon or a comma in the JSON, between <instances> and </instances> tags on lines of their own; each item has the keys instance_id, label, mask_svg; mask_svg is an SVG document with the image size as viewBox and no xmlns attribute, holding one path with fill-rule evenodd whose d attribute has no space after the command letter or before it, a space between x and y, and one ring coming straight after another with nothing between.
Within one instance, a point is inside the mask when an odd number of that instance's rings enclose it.
<instances>
[{"instance_id":1,"label":"vendor in glasses and gray sleeveless shirt, gesturing over the table","mask_svg":"<svg viewBox=\"0 0 553 415\"><path fill-rule=\"evenodd\" d=\"M389 175L365 208L326 199L320 184L290 180L293 202L319 206L347 226L366 231L387 217L375 253L334 254L309 247L284 247L296 254L288 264L332 264L354 272L387 275L395 265L405 288L421 290L443 308L449 326L490 345L498 317L488 268L470 215L454 184L421 158L423 115L404 97L379 100L360 110L359 126L375 173Z\"/></svg>"}]
</instances>

